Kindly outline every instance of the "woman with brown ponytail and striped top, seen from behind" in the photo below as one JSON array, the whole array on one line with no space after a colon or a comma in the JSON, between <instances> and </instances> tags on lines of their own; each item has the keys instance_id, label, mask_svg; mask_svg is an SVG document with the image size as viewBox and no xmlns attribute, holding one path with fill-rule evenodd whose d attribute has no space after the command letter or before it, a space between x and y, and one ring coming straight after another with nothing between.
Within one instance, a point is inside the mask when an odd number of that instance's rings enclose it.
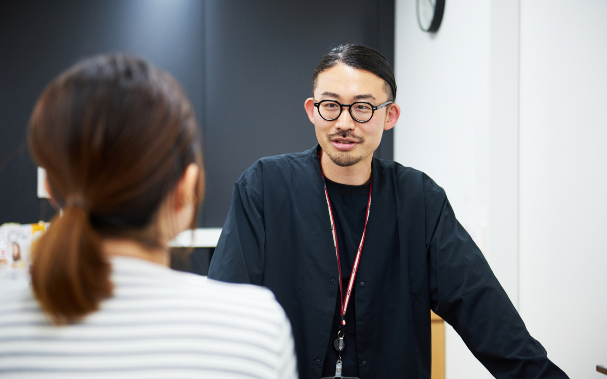
<instances>
[{"instance_id":1,"label":"woman with brown ponytail and striped top, seen from behind","mask_svg":"<svg viewBox=\"0 0 607 379\"><path fill-rule=\"evenodd\" d=\"M167 267L205 184L194 112L168 73L80 62L42 92L28 142L61 212L33 246L31 287L0 283L0 377L296 377L269 290Z\"/></svg>"}]
</instances>

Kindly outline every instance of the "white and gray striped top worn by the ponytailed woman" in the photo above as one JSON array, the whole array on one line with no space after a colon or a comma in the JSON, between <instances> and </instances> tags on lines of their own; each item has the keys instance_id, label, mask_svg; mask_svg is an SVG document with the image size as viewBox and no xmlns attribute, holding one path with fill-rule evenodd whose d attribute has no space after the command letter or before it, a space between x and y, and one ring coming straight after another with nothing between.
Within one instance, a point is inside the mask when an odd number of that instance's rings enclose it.
<instances>
[{"instance_id":1,"label":"white and gray striped top worn by the ponytailed woman","mask_svg":"<svg viewBox=\"0 0 607 379\"><path fill-rule=\"evenodd\" d=\"M112 258L114 297L55 326L0 282L2 378L296 378L291 326L262 287Z\"/></svg>"}]
</instances>

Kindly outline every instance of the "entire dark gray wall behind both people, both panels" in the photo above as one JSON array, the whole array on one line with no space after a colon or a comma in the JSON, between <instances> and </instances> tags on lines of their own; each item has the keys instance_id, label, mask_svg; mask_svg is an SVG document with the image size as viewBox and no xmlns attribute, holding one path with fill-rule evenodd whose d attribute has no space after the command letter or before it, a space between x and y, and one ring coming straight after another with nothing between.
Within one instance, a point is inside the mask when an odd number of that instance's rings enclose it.
<instances>
[{"instance_id":1,"label":"entire dark gray wall behind both people, both panels","mask_svg":"<svg viewBox=\"0 0 607 379\"><path fill-rule=\"evenodd\" d=\"M304 112L328 48L378 49L391 63L394 1L104 0L0 4L0 223L49 220L36 198L26 124L41 90L84 56L129 52L171 72L202 126L199 225L223 226L232 185L256 159L316 143ZM392 131L376 152L392 159Z\"/></svg>"}]
</instances>

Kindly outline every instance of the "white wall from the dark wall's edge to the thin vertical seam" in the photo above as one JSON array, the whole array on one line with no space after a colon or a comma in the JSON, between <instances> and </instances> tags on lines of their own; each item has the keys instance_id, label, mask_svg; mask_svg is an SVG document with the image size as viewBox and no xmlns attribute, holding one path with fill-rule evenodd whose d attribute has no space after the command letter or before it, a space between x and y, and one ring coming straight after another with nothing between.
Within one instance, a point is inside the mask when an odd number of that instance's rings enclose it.
<instances>
[{"instance_id":1,"label":"white wall from the dark wall's edge to the thin vertical seam","mask_svg":"<svg viewBox=\"0 0 607 379\"><path fill-rule=\"evenodd\" d=\"M415 1L398 1L395 43L395 160L446 190L517 306L518 2L447 1L439 32L429 34ZM491 377L449 326L446 375Z\"/></svg>"}]
</instances>

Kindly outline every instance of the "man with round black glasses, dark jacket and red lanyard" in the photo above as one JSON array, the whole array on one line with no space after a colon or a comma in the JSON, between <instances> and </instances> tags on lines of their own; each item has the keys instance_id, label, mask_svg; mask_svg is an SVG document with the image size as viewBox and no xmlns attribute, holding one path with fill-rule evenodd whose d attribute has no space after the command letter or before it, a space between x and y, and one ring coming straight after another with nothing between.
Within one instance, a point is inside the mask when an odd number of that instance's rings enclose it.
<instances>
[{"instance_id":1,"label":"man with round black glasses, dark jacket and red lanyard","mask_svg":"<svg viewBox=\"0 0 607 379\"><path fill-rule=\"evenodd\" d=\"M243 173L209 278L273 290L293 324L302 378L430 378L430 309L496 377L566 378L444 190L373 157L401 112L384 56L336 47L312 90L304 107L318 145Z\"/></svg>"}]
</instances>

